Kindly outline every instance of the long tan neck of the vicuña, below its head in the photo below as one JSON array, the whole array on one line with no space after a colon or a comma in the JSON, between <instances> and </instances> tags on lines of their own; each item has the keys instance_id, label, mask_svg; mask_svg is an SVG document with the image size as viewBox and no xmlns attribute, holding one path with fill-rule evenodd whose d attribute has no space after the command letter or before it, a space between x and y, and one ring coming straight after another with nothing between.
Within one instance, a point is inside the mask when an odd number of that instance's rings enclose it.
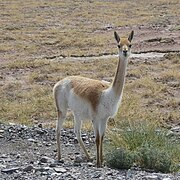
<instances>
[{"instance_id":1,"label":"long tan neck of the vicu\u00f1a, below its head","mask_svg":"<svg viewBox=\"0 0 180 180\"><path fill-rule=\"evenodd\" d=\"M128 63L127 58L121 59L119 57L116 75L115 75L114 81L112 83L112 88L118 97L120 97L123 92L127 63Z\"/></svg>"}]
</instances>

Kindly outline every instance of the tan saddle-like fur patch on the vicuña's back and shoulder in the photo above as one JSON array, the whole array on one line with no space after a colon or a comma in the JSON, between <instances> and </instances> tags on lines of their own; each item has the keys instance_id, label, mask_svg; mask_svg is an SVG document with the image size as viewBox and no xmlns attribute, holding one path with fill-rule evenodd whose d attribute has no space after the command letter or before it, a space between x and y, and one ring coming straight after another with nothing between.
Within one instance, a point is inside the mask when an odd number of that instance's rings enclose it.
<instances>
[{"instance_id":1,"label":"tan saddle-like fur patch on the vicu\u00f1a's back and shoulder","mask_svg":"<svg viewBox=\"0 0 180 180\"><path fill-rule=\"evenodd\" d=\"M93 110L96 111L101 93L107 89L109 85L105 82L79 76L71 76L69 79L71 80L74 93L88 100Z\"/></svg>"}]
</instances>

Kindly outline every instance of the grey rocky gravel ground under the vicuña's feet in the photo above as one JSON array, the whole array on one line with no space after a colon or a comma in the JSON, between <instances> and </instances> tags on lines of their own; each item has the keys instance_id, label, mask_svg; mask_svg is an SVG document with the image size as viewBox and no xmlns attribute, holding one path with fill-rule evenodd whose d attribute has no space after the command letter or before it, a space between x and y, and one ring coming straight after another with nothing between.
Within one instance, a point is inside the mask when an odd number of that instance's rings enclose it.
<instances>
[{"instance_id":1,"label":"grey rocky gravel ground under the vicu\u00f1a's feet","mask_svg":"<svg viewBox=\"0 0 180 180\"><path fill-rule=\"evenodd\" d=\"M172 135L179 132L180 127L170 130ZM93 133L83 133L82 137L94 152ZM43 128L41 124L34 127L0 124L0 179L180 179L180 173L96 168L95 160L87 162L82 157L73 129L62 130L62 140L63 159L57 161L55 129Z\"/></svg>"}]
</instances>

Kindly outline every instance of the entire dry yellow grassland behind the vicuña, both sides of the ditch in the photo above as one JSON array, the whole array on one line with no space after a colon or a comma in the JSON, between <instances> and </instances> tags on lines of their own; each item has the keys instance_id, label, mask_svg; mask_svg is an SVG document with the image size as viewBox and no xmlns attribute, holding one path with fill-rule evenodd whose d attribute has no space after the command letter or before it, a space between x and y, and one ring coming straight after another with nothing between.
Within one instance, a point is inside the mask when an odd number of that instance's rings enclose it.
<instances>
[{"instance_id":1,"label":"entire dry yellow grassland behind the vicu\u00f1a, both sides of the ditch","mask_svg":"<svg viewBox=\"0 0 180 180\"><path fill-rule=\"evenodd\" d=\"M136 29L134 51L145 44L153 46L154 41L144 43L138 39L148 40L144 27L152 31L155 27L161 32L164 27L170 27L171 33L177 32L178 5L178 0L0 1L0 121L38 120L54 124L55 82L67 75L112 81L117 60L58 62L53 59L61 55L115 53L113 31L129 33L123 26ZM177 43L176 39L157 43L164 46L169 42ZM178 122L178 69L179 55L167 55L161 60L132 59L122 116L149 119L152 116L163 122Z\"/></svg>"}]
</instances>

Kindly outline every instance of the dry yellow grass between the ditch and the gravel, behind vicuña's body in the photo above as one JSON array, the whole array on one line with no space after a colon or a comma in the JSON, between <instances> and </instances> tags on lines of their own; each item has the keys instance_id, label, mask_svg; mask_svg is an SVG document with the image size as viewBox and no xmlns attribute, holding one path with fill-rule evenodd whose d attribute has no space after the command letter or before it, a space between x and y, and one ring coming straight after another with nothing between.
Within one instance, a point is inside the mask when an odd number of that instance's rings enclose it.
<instances>
[{"instance_id":1,"label":"dry yellow grass between the ditch and the gravel, behind vicu\u00f1a's body","mask_svg":"<svg viewBox=\"0 0 180 180\"><path fill-rule=\"evenodd\" d=\"M131 59L120 119L179 121L179 54L159 60ZM149 60L150 61L150 60ZM173 62L173 63L172 63ZM53 85L67 75L112 81L117 59L68 61L13 61L1 67L1 114L4 122L54 124ZM168 68L167 68L168 67Z\"/></svg>"}]
</instances>

